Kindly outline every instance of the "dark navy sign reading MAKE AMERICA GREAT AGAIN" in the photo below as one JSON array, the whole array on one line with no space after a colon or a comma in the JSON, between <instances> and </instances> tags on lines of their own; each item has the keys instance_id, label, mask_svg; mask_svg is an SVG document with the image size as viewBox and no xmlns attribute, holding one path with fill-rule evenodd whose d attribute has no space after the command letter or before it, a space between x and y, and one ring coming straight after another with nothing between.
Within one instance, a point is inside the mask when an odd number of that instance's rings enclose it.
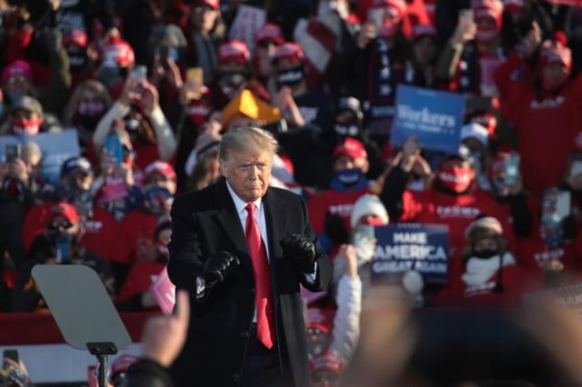
<instances>
[{"instance_id":1,"label":"dark navy sign reading MAKE AMERICA GREAT AGAIN","mask_svg":"<svg viewBox=\"0 0 582 387\"><path fill-rule=\"evenodd\" d=\"M397 223L375 227L372 279L391 279L415 270L428 284L445 284L449 266L449 229L445 225Z\"/></svg>"}]
</instances>

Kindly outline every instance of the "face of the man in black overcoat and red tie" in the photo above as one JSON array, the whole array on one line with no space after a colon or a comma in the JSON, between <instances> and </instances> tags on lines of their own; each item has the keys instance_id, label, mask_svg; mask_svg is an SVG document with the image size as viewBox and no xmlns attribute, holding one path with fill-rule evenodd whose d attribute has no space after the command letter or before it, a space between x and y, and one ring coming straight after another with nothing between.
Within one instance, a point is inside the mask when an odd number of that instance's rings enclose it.
<instances>
[{"instance_id":1,"label":"face of the man in black overcoat and red tie","mask_svg":"<svg viewBox=\"0 0 582 387\"><path fill-rule=\"evenodd\" d=\"M220 160L220 173L242 200L251 202L267 192L271 177L272 153L229 151L228 160Z\"/></svg>"}]
</instances>

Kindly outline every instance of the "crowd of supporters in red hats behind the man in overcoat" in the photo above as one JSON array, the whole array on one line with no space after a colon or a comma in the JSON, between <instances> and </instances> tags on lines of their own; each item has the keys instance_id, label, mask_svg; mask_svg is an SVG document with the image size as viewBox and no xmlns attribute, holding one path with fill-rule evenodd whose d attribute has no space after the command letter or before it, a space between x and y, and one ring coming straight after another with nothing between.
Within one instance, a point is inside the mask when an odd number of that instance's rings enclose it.
<instances>
[{"instance_id":1,"label":"crowd of supporters in red hats behind the man in overcoat","mask_svg":"<svg viewBox=\"0 0 582 387\"><path fill-rule=\"evenodd\" d=\"M0 311L47 312L39 263L91 266L120 311L157 308L174 197L221 179L237 127L277 138L270 186L303 198L334 262L332 290L302 290L314 386L358 347L366 226L447 226L447 282L397 279L415 308L577 284L582 5L560 3L0 1ZM465 95L458 151L392 145L401 84ZM36 140L67 132L62 160Z\"/></svg>"}]
</instances>

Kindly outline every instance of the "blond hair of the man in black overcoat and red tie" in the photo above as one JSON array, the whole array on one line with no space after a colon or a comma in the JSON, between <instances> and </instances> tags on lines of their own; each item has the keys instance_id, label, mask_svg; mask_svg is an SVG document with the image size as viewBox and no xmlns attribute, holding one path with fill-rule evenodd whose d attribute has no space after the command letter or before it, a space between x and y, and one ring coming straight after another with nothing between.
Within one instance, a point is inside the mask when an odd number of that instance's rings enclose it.
<instances>
[{"instance_id":1,"label":"blond hair of the man in black overcoat and red tie","mask_svg":"<svg viewBox=\"0 0 582 387\"><path fill-rule=\"evenodd\" d=\"M258 127L237 127L222 136L218 147L218 159L228 160L230 151L253 154L268 151L274 155L278 148L279 142L270 132Z\"/></svg>"}]
</instances>

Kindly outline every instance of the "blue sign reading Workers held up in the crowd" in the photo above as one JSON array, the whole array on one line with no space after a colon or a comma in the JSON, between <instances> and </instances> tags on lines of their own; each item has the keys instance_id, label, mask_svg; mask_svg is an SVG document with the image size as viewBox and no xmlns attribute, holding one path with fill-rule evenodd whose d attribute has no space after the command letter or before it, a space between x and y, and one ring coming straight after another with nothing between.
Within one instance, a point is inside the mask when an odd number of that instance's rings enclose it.
<instances>
[{"instance_id":1,"label":"blue sign reading Workers held up in the crowd","mask_svg":"<svg viewBox=\"0 0 582 387\"><path fill-rule=\"evenodd\" d=\"M465 96L399 84L391 144L419 136L422 149L456 153L461 142Z\"/></svg>"}]
</instances>

